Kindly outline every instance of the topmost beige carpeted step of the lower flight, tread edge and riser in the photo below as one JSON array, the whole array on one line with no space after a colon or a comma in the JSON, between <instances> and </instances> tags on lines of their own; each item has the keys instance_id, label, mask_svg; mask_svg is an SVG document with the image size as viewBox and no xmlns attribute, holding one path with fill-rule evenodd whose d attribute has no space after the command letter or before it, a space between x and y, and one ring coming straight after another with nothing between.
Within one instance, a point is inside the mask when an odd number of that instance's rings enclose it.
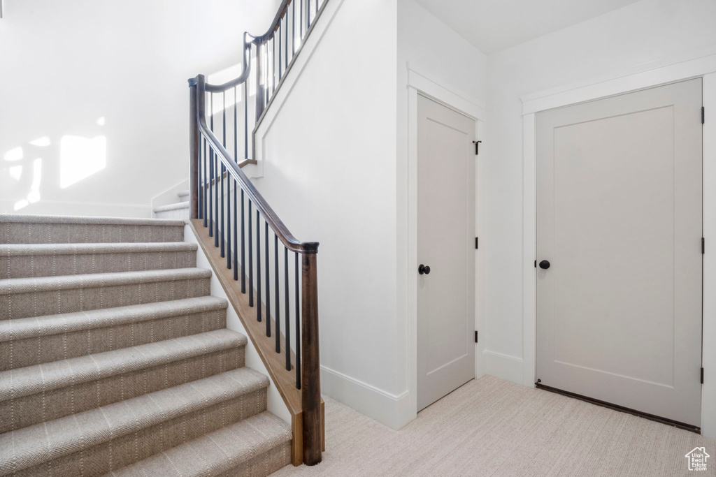
<instances>
[{"instance_id":1,"label":"topmost beige carpeted step of the lower flight, tread edge and riser","mask_svg":"<svg viewBox=\"0 0 716 477\"><path fill-rule=\"evenodd\" d=\"M181 220L0 215L0 243L181 242Z\"/></svg>"}]
</instances>

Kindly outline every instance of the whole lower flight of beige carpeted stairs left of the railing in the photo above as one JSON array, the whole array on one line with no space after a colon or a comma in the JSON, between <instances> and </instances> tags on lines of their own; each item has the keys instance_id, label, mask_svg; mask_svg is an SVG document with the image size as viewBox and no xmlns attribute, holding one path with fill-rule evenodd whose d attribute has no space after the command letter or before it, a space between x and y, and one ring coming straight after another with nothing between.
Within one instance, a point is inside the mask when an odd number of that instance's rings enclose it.
<instances>
[{"instance_id":1,"label":"whole lower flight of beige carpeted stairs left of the railing","mask_svg":"<svg viewBox=\"0 0 716 477\"><path fill-rule=\"evenodd\" d=\"M0 215L0 476L266 476L266 411L181 220Z\"/></svg>"}]
</instances>

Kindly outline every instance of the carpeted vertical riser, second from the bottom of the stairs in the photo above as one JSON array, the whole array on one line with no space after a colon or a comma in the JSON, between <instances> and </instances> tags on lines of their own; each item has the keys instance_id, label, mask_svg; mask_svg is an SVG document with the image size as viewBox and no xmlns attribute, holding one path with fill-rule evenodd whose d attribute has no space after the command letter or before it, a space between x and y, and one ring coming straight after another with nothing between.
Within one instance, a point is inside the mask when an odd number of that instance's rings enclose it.
<instances>
[{"instance_id":1,"label":"carpeted vertical riser, second from the bottom of the stairs","mask_svg":"<svg viewBox=\"0 0 716 477\"><path fill-rule=\"evenodd\" d=\"M16 472L17 477L92 477L130 465L179 446L205 433L241 421L266 410L266 389L262 389L225 403L179 416L158 426L122 436L84 451L70 454ZM180 475L180 474L178 474ZM265 474L264 474L265 475Z\"/></svg>"}]
</instances>

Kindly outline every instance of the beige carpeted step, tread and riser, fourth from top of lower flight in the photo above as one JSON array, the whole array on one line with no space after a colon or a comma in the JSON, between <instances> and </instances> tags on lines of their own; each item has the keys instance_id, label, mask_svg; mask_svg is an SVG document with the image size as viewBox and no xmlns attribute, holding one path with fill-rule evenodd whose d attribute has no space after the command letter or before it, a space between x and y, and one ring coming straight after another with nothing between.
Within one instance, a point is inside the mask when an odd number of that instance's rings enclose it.
<instances>
[{"instance_id":1,"label":"beige carpeted step, tread and riser, fourth from top of lower flight","mask_svg":"<svg viewBox=\"0 0 716 477\"><path fill-rule=\"evenodd\" d=\"M0 371L220 330L227 305L206 296L0 320Z\"/></svg>"}]
</instances>

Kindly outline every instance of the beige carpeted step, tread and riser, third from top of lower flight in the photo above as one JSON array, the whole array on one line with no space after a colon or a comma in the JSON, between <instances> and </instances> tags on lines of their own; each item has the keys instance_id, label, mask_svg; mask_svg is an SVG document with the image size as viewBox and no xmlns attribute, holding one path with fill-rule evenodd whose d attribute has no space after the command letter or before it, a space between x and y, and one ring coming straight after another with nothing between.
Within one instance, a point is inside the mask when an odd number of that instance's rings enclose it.
<instances>
[{"instance_id":1,"label":"beige carpeted step, tread and riser, third from top of lower flight","mask_svg":"<svg viewBox=\"0 0 716 477\"><path fill-rule=\"evenodd\" d=\"M0 280L1 320L209 295L211 270L178 268Z\"/></svg>"}]
</instances>

